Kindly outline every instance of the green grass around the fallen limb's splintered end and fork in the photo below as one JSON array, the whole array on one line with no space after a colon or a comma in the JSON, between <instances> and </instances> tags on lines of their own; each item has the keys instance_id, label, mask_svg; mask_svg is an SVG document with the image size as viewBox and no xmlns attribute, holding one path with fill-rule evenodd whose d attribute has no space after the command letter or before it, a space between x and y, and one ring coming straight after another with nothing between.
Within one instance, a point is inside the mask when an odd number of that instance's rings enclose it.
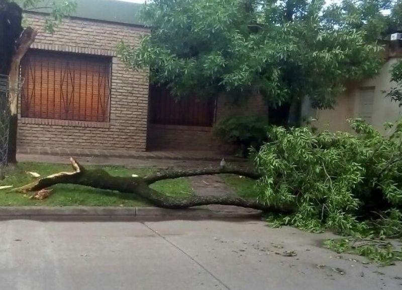
<instances>
[{"instance_id":1,"label":"green grass around the fallen limb's splintered end and fork","mask_svg":"<svg viewBox=\"0 0 402 290\"><path fill-rule=\"evenodd\" d=\"M132 174L145 176L155 171L153 168L126 168L124 166L85 166L85 168L103 168L113 176L131 176ZM44 177L71 170L71 165L67 164L19 163L16 168L7 173L4 180L0 180L0 185L13 185L13 188L16 188L34 181L34 178L26 173L27 171L37 172ZM185 197L192 194L190 183L185 178L158 181L151 187L169 196ZM144 199L133 194L112 190L74 184L57 184L52 186L52 189L52 194L44 200L29 199L22 193L3 189L0 190L0 206L150 206Z\"/></svg>"}]
</instances>

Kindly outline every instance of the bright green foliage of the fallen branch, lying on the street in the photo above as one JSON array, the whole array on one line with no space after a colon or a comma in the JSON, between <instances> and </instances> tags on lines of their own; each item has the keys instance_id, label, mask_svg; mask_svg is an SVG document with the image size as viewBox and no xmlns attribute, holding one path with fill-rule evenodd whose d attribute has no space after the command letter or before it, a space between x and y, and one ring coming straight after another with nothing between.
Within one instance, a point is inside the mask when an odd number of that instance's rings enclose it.
<instances>
[{"instance_id":1,"label":"bright green foliage of the fallen branch, lying on the street","mask_svg":"<svg viewBox=\"0 0 402 290\"><path fill-rule=\"evenodd\" d=\"M402 121L382 136L361 119L349 120L355 135L309 128L271 127L272 139L255 152L263 178L258 199L293 205L276 224L353 236L402 234ZM391 133L392 132L392 133Z\"/></svg>"}]
</instances>

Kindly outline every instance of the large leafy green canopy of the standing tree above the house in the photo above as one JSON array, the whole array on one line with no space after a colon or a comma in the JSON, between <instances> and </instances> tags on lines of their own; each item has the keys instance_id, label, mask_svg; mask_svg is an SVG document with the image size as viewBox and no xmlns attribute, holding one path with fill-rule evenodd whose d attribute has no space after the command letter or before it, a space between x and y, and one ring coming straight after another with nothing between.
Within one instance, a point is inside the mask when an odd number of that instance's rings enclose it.
<instances>
[{"instance_id":1,"label":"large leafy green canopy of the standing tree above the house","mask_svg":"<svg viewBox=\"0 0 402 290\"><path fill-rule=\"evenodd\" d=\"M151 34L120 57L177 96L260 92L271 106L309 96L328 108L347 79L374 75L377 39L398 24L388 0L154 0ZM384 13L392 9L392 13Z\"/></svg>"}]
</instances>

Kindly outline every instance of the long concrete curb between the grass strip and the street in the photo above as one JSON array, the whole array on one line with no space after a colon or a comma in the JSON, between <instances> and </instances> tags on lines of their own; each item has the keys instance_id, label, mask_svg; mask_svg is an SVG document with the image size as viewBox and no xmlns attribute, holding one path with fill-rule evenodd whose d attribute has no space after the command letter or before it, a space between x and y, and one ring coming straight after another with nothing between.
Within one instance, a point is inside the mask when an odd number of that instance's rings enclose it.
<instances>
[{"instance_id":1,"label":"long concrete curb between the grass strip and the street","mask_svg":"<svg viewBox=\"0 0 402 290\"><path fill-rule=\"evenodd\" d=\"M193 218L256 218L255 211L213 211L208 208L165 209L159 207L118 206L0 206L0 219L36 218L110 218L110 219L193 219Z\"/></svg>"}]
</instances>

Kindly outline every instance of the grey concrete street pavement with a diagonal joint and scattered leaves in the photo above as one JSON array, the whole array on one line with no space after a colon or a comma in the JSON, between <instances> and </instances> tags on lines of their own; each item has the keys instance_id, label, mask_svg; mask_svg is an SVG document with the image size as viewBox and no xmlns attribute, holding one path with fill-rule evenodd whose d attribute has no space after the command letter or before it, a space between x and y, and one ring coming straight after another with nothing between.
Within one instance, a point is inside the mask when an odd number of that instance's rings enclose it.
<instances>
[{"instance_id":1,"label":"grey concrete street pavement with a diagonal joint and scattered leaves","mask_svg":"<svg viewBox=\"0 0 402 290\"><path fill-rule=\"evenodd\" d=\"M5 290L402 289L402 263L363 264L320 247L330 234L255 220L6 220L0 233Z\"/></svg>"}]
</instances>

